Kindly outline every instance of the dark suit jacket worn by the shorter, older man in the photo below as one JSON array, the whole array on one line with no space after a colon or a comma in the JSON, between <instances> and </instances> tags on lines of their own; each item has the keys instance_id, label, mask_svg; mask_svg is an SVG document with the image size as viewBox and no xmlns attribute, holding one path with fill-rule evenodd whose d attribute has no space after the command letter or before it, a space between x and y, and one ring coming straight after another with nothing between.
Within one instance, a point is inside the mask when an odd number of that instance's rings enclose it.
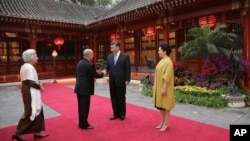
<instances>
[{"instance_id":1,"label":"dark suit jacket worn by the shorter, older man","mask_svg":"<svg viewBox=\"0 0 250 141\"><path fill-rule=\"evenodd\" d=\"M82 59L76 67L75 93L80 95L94 94L94 78L102 78L103 73L97 73L95 65L87 59Z\"/></svg>"}]
</instances>

